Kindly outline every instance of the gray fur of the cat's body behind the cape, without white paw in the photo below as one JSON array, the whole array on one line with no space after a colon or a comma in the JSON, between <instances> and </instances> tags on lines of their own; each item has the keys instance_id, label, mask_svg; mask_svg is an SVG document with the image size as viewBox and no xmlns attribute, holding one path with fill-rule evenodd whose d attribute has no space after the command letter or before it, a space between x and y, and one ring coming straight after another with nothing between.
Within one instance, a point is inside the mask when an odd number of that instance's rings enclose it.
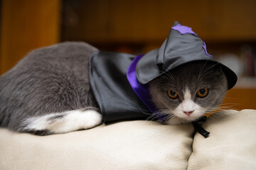
<instances>
[{"instance_id":1,"label":"gray fur of the cat's body behind the cape, without white paw","mask_svg":"<svg viewBox=\"0 0 256 170\"><path fill-rule=\"evenodd\" d=\"M23 121L48 113L97 108L84 42L64 42L29 53L0 77L0 127L21 132Z\"/></svg>"}]
</instances>

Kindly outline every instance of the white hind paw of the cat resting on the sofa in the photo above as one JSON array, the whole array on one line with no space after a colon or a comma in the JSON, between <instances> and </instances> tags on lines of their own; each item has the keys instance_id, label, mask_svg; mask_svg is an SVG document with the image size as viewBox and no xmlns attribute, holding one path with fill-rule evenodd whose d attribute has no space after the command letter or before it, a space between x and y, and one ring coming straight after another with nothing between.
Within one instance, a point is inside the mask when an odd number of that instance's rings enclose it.
<instances>
[{"instance_id":1,"label":"white hind paw of the cat resting on the sofa","mask_svg":"<svg viewBox=\"0 0 256 170\"><path fill-rule=\"evenodd\" d=\"M63 113L50 113L36 118L28 118L23 130L46 130L49 133L65 133L94 128L102 123L102 115L94 110L75 110Z\"/></svg>"}]
</instances>

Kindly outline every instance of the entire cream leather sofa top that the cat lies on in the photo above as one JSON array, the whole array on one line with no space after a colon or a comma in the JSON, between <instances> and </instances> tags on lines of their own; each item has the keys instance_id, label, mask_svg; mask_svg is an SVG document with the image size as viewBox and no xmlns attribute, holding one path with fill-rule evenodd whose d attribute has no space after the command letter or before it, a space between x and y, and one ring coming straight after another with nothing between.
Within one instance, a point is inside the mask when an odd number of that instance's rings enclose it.
<instances>
[{"instance_id":1,"label":"entire cream leather sofa top that the cat lies on","mask_svg":"<svg viewBox=\"0 0 256 170\"><path fill-rule=\"evenodd\" d=\"M256 111L227 110L202 124L132 120L60 135L0 129L0 169L256 169Z\"/></svg>"}]
</instances>

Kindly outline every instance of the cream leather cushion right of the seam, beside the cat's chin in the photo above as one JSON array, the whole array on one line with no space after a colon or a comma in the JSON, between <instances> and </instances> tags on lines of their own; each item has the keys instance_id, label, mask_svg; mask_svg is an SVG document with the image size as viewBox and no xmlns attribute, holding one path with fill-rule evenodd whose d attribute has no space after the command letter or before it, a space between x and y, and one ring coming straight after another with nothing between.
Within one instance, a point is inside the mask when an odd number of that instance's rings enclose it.
<instances>
[{"instance_id":1,"label":"cream leather cushion right of the seam, beside the cat's chin","mask_svg":"<svg viewBox=\"0 0 256 170\"><path fill-rule=\"evenodd\" d=\"M256 169L256 111L225 111L203 124L196 134L188 169Z\"/></svg>"}]
</instances>

